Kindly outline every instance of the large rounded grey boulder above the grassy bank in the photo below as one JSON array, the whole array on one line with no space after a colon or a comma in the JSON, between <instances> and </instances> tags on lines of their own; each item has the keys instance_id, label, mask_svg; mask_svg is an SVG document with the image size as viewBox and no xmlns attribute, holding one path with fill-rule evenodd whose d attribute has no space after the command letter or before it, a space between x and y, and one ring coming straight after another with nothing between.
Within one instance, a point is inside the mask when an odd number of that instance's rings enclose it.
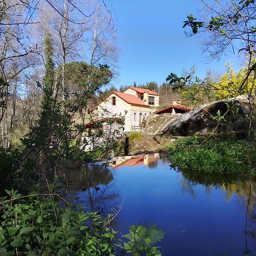
<instances>
[{"instance_id":1,"label":"large rounded grey boulder above the grassy bank","mask_svg":"<svg viewBox=\"0 0 256 256\"><path fill-rule=\"evenodd\" d=\"M255 111L255 104L253 106ZM246 138L250 126L248 115L250 105L244 98L214 101L181 114L163 127L160 133L178 136L214 133L216 137ZM251 127L256 129L255 121Z\"/></svg>"}]
</instances>

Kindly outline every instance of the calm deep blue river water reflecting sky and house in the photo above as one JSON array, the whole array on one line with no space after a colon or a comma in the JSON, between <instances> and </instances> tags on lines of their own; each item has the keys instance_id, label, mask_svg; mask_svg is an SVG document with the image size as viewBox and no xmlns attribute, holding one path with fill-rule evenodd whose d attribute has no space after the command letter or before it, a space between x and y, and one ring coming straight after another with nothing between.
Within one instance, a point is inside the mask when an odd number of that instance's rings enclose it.
<instances>
[{"instance_id":1,"label":"calm deep blue river water reflecting sky and house","mask_svg":"<svg viewBox=\"0 0 256 256\"><path fill-rule=\"evenodd\" d=\"M89 164L76 177L77 203L102 214L122 204L112 222L121 234L156 224L166 233L158 243L163 255L256 255L254 185L245 232L248 180L179 172L159 154L114 158L110 165Z\"/></svg>"}]
</instances>

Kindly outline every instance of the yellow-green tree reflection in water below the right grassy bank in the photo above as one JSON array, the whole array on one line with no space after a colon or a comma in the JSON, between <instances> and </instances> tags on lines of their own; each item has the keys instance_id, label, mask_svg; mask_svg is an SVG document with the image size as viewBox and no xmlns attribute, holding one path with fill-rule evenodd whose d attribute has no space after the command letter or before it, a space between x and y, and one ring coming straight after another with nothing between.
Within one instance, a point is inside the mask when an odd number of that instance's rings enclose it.
<instances>
[{"instance_id":1,"label":"yellow-green tree reflection in water below the right grassy bank","mask_svg":"<svg viewBox=\"0 0 256 256\"><path fill-rule=\"evenodd\" d=\"M175 170L180 172L179 170ZM256 251L256 180L249 177L233 175L211 175L201 172L181 171L180 186L183 193L196 197L195 186L204 185L209 195L211 189L219 188L224 193L224 199L230 201L234 195L245 209L245 251L244 255L255 255ZM234 224L236 225L236 224ZM253 249L253 250L251 250Z\"/></svg>"}]
</instances>

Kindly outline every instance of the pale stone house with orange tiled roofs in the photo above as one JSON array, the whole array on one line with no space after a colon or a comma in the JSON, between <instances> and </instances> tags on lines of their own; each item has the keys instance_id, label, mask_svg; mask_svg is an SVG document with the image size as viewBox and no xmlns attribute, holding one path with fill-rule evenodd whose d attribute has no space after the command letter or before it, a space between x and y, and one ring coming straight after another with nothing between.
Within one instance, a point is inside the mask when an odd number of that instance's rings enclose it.
<instances>
[{"instance_id":1,"label":"pale stone house with orange tiled roofs","mask_svg":"<svg viewBox=\"0 0 256 256\"><path fill-rule=\"evenodd\" d=\"M159 95L148 89L130 87L112 92L98 104L98 120L125 118L123 132L141 130L142 122L159 106Z\"/></svg>"}]
</instances>

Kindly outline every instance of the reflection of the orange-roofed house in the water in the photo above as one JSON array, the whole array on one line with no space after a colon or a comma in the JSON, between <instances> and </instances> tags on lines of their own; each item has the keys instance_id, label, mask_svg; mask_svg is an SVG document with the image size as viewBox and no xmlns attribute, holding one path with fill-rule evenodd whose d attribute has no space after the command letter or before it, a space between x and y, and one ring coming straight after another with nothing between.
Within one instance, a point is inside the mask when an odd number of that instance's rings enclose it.
<instances>
[{"instance_id":1,"label":"reflection of the orange-roofed house in the water","mask_svg":"<svg viewBox=\"0 0 256 256\"><path fill-rule=\"evenodd\" d=\"M110 160L109 165L114 169L123 166L137 166L143 164L144 166L151 167L157 164L159 153L139 155L139 156L116 156Z\"/></svg>"}]
</instances>

